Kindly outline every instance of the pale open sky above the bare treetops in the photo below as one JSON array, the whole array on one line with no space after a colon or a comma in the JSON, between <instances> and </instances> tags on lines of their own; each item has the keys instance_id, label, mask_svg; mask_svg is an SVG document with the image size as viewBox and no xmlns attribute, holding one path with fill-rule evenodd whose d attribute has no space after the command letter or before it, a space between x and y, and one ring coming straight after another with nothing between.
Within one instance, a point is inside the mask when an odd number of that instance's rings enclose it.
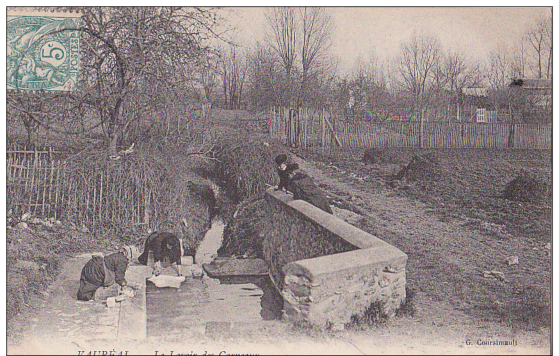
<instances>
[{"instance_id":1,"label":"pale open sky above the bare treetops","mask_svg":"<svg viewBox=\"0 0 559 356\"><path fill-rule=\"evenodd\" d=\"M236 26L236 39L250 44L264 40L266 8L243 7L227 18ZM446 49L459 49L474 61L485 60L496 49L510 48L551 8L380 8L330 7L336 29L331 53L339 69L348 71L356 60L374 56L389 60L398 55L400 43L414 34L433 35Z\"/></svg>"}]
</instances>

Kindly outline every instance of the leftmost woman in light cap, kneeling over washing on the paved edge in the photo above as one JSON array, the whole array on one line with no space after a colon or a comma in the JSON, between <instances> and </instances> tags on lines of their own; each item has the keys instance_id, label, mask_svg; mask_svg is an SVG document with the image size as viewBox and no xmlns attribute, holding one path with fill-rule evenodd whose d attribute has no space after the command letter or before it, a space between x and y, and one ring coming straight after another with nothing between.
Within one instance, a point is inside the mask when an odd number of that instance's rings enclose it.
<instances>
[{"instance_id":1,"label":"leftmost woman in light cap, kneeling over washing on the paved edge","mask_svg":"<svg viewBox=\"0 0 559 356\"><path fill-rule=\"evenodd\" d=\"M105 257L93 256L81 269L78 300L95 299L102 302L108 297L118 296L121 287L127 285L124 273L131 259L129 248Z\"/></svg>"}]
</instances>

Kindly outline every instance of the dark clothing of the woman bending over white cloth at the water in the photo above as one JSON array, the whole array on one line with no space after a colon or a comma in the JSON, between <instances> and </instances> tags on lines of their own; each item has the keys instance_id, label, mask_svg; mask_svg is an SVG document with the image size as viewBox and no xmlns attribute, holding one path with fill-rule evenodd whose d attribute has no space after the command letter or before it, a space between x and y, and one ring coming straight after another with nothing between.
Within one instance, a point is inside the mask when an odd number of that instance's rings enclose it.
<instances>
[{"instance_id":1,"label":"dark clothing of the woman bending over white cloth at the water","mask_svg":"<svg viewBox=\"0 0 559 356\"><path fill-rule=\"evenodd\" d=\"M172 248L167 248L167 245ZM144 252L138 257L138 262L147 265L149 251L153 252L154 262L163 262L167 257L170 264L181 265L181 244L177 236L170 232L156 231L149 234L145 239Z\"/></svg>"}]
</instances>

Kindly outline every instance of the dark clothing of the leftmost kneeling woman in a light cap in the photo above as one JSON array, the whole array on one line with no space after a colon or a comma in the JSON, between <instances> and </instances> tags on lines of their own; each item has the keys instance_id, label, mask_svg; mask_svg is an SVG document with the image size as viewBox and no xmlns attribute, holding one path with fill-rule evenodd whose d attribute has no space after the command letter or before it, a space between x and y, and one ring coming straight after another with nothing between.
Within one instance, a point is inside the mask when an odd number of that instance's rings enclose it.
<instances>
[{"instance_id":1,"label":"dark clothing of the leftmost kneeling woman in a light cap","mask_svg":"<svg viewBox=\"0 0 559 356\"><path fill-rule=\"evenodd\" d=\"M78 300L90 300L97 288L109 287L115 282L121 287L127 285L124 279L127 266L128 258L122 252L105 257L92 257L81 269Z\"/></svg>"}]
</instances>

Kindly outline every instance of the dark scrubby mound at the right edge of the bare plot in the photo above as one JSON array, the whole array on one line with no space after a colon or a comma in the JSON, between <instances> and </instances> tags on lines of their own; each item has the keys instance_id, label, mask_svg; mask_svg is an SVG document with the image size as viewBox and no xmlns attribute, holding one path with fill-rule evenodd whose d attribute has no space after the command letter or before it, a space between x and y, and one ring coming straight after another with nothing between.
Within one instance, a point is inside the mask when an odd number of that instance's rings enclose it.
<instances>
[{"instance_id":1,"label":"dark scrubby mound at the right edge of the bare plot","mask_svg":"<svg viewBox=\"0 0 559 356\"><path fill-rule=\"evenodd\" d=\"M507 183L502 197L525 202L551 200L551 184L545 175L522 169L517 178Z\"/></svg>"}]
</instances>

